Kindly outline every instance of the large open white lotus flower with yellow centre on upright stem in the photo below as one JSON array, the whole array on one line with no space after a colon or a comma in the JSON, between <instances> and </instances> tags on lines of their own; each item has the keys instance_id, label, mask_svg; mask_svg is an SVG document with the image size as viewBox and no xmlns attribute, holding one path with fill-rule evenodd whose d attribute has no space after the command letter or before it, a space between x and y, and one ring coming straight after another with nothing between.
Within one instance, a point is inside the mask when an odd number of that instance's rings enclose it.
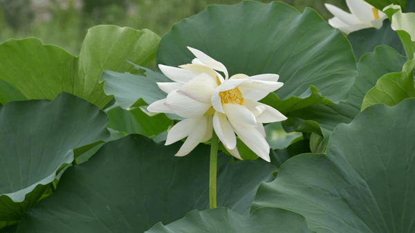
<instances>
[{"instance_id":1,"label":"large open white lotus flower with yellow centre on upright stem","mask_svg":"<svg viewBox=\"0 0 415 233\"><path fill-rule=\"evenodd\" d=\"M223 64L199 50L187 48L196 56L192 64L180 68L158 66L175 82L157 83L168 95L147 108L148 111L176 113L186 118L172 127L165 145L187 137L175 155L185 156L200 142L210 140L214 129L233 156L241 159L236 147L234 133L237 133L252 151L269 162L270 147L265 140L263 123L286 120L286 117L257 101L282 86L277 82L279 75L248 77L238 74L229 79ZM216 71L223 72L225 78Z\"/></svg>"}]
</instances>

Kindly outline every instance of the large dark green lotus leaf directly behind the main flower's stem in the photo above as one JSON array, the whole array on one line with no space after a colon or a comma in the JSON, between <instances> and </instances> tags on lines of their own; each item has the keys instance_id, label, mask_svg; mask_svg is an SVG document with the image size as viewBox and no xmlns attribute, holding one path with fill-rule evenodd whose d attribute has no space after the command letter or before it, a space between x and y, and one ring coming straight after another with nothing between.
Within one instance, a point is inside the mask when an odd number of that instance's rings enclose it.
<instances>
[{"instance_id":1,"label":"large dark green lotus leaf directly behind the main flower's stem","mask_svg":"<svg viewBox=\"0 0 415 233\"><path fill-rule=\"evenodd\" d=\"M53 195L28 210L18 232L144 232L209 207L210 147L189 155L140 135L107 142L69 167ZM219 153L218 205L248 214L257 187L277 169L263 160L231 162Z\"/></svg>"}]
</instances>

